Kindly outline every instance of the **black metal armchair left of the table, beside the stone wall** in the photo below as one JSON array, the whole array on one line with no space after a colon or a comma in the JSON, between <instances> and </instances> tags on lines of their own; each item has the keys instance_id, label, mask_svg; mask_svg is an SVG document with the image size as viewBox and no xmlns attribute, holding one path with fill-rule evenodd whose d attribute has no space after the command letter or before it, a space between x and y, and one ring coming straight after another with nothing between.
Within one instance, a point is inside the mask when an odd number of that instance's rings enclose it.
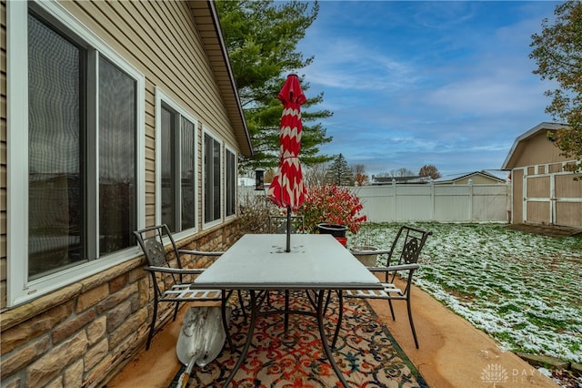
<instances>
[{"instance_id":1,"label":"black metal armchair left of the table, beside the stone wall","mask_svg":"<svg viewBox=\"0 0 582 388\"><path fill-rule=\"evenodd\" d=\"M223 325L228 334L225 305L226 300L230 297L232 291L190 289L190 285L196 278L196 275L202 273L205 269L185 268L185 262L182 257L183 255L216 257L222 255L223 252L178 250L176 241L172 237L166 224L152 226L143 230L135 230L134 234L139 246L146 255L148 266L145 270L152 275L152 287L154 288L155 297L152 322L150 323L149 334L147 335L146 350L149 349L152 337L154 336L154 331L156 329L157 306L160 302L176 303L173 318L173 320L176 321L178 308L182 302L221 301ZM170 243L167 250L165 247L165 240L166 243L167 241Z\"/></svg>"}]
</instances>

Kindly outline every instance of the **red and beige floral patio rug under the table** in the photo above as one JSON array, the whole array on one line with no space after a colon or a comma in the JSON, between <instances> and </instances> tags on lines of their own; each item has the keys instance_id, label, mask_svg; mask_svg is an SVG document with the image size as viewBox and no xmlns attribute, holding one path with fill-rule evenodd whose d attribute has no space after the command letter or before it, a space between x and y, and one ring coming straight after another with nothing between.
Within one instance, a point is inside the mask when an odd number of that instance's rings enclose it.
<instances>
[{"instance_id":1,"label":"red and beige floral patio rug under the table","mask_svg":"<svg viewBox=\"0 0 582 388\"><path fill-rule=\"evenodd\" d=\"M269 299L272 307L283 307L282 295L275 292ZM335 299L332 299L326 314L329 342L336 327L338 306ZM309 310L309 306L305 292L291 295L292 308ZM243 317L240 308L233 311L229 327L238 349L242 349L246 340L249 321L248 317ZM232 386L341 386L326 360L315 317L289 315L288 332L285 333L283 315L260 316L253 337L246 362L236 373ZM415 366L364 300L344 300L344 318L333 354L350 387L427 387ZM231 352L225 344L213 362L204 367L195 366L187 386L222 386L237 360L238 353ZM171 387L177 386L185 369L183 366L176 374Z\"/></svg>"}]
</instances>

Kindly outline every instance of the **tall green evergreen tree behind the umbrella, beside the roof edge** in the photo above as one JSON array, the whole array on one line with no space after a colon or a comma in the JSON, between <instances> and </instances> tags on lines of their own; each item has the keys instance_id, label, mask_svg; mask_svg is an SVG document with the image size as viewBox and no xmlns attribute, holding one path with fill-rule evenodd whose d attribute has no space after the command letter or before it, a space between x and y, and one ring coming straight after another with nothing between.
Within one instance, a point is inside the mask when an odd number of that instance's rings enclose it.
<instances>
[{"instance_id":1,"label":"tall green evergreen tree behind the umbrella, beside the roof edge","mask_svg":"<svg viewBox=\"0 0 582 388\"><path fill-rule=\"evenodd\" d=\"M309 65L313 56L296 52L297 43L316 20L319 5L271 0L216 1L226 49L255 150L240 160L243 170L276 168L279 163L279 125L283 106L277 95L286 76ZM308 96L309 84L299 76L307 101L302 106L301 163L311 166L331 160L319 147L331 141L318 121L331 117L328 110L312 111L323 94Z\"/></svg>"}]
</instances>

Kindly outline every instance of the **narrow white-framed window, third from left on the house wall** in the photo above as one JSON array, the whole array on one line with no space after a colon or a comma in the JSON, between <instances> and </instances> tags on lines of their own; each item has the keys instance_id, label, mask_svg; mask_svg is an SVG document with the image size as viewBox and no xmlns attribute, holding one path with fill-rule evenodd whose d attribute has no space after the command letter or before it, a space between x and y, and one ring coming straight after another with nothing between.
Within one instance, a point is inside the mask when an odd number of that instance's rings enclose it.
<instances>
[{"instance_id":1,"label":"narrow white-framed window, third from left on the house wall","mask_svg":"<svg viewBox=\"0 0 582 388\"><path fill-rule=\"evenodd\" d=\"M222 143L209 131L204 132L204 224L205 227L219 223L222 218Z\"/></svg>"}]
</instances>

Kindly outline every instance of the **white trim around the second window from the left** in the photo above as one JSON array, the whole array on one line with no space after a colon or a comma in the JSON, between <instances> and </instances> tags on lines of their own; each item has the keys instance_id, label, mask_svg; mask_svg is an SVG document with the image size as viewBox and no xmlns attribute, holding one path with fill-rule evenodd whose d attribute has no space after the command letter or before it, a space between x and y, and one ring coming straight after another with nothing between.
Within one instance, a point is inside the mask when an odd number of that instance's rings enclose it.
<instances>
[{"instance_id":1,"label":"white trim around the second window from the left","mask_svg":"<svg viewBox=\"0 0 582 388\"><path fill-rule=\"evenodd\" d=\"M177 104L171 97L169 97L160 87L156 87L156 225L162 223L162 103L166 104L168 107L176 110L181 116L185 117L188 121L194 123L195 126L195 158L196 164L194 166L195 183L194 183L194 198L196 199L196 226L187 230L181 230L173 234L176 240L186 238L195 234L198 231L198 203L200 195L198 192L198 171L199 163L198 160L198 149L197 139L199 138L200 130L198 125L198 120L196 117L190 115L184 107ZM181 128L181 127L180 127ZM181 129L180 129L181 130ZM181 138L181 137L180 137ZM182 166L180 166L182 168Z\"/></svg>"}]
</instances>

